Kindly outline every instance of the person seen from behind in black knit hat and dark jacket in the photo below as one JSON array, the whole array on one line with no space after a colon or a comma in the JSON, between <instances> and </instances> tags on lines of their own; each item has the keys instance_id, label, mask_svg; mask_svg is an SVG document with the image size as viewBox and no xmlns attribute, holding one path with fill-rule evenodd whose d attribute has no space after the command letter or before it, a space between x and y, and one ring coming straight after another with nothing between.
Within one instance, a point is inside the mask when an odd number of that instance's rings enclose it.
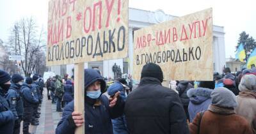
<instances>
[{"instance_id":1,"label":"person seen from behind in black knit hat and dark jacket","mask_svg":"<svg viewBox=\"0 0 256 134\"><path fill-rule=\"evenodd\" d=\"M148 63L141 71L140 85L128 94L125 117L130 133L189 133L179 95L163 87L160 66Z\"/></svg>"}]
</instances>

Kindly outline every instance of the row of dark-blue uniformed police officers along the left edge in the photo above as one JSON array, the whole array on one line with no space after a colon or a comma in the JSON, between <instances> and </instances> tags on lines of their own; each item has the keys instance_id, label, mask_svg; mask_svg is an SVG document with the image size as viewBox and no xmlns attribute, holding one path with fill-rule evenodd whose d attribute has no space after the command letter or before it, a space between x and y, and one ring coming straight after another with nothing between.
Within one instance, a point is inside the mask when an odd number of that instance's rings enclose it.
<instances>
[{"instance_id":1,"label":"row of dark-blue uniformed police officers along the left edge","mask_svg":"<svg viewBox=\"0 0 256 134\"><path fill-rule=\"evenodd\" d=\"M40 117L44 80L33 75L24 80L19 74L12 77L0 70L0 133L29 133L29 124L38 126Z\"/></svg>"}]
</instances>

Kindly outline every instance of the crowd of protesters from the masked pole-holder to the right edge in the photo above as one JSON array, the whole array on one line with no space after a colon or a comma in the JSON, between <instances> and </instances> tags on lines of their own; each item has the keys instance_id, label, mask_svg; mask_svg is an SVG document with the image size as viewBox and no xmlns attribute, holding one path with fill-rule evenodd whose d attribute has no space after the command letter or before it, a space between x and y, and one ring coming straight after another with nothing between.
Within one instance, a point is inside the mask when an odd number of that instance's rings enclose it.
<instances>
[{"instance_id":1,"label":"crowd of protesters from the masked pole-holder to the right edge","mask_svg":"<svg viewBox=\"0 0 256 134\"><path fill-rule=\"evenodd\" d=\"M163 71L154 63L143 66L141 80L131 93L125 84L106 82L95 70L85 70L84 118L74 101L63 110L56 133L256 133L256 71L242 70L212 81L176 82L163 87ZM196 84L196 85L195 85Z\"/></svg>"}]
</instances>

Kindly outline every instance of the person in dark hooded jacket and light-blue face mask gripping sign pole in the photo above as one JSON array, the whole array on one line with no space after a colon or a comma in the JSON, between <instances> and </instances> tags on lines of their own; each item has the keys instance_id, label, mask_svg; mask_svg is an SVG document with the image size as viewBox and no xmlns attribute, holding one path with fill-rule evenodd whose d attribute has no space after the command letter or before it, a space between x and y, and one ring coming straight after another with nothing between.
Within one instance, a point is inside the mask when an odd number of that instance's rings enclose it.
<instances>
[{"instance_id":1,"label":"person in dark hooded jacket and light-blue face mask gripping sign pole","mask_svg":"<svg viewBox=\"0 0 256 134\"><path fill-rule=\"evenodd\" d=\"M86 134L113 134L111 119L124 113L124 101L116 92L112 98L102 95L106 82L93 69L84 71L84 119L81 113L74 111L74 101L65 106L56 134L75 133L77 126L82 126Z\"/></svg>"}]
</instances>

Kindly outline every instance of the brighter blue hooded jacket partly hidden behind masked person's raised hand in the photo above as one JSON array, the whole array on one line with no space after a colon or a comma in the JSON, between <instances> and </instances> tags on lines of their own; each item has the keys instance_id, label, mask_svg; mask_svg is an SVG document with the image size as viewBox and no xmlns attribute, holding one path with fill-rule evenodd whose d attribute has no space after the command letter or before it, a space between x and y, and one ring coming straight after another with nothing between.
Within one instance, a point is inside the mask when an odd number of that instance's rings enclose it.
<instances>
[{"instance_id":1,"label":"brighter blue hooded jacket partly hidden behind masked person's raised hand","mask_svg":"<svg viewBox=\"0 0 256 134\"><path fill-rule=\"evenodd\" d=\"M124 93L124 86L120 82L115 82L110 87L108 87L108 94L109 96L115 95L117 91L120 91L120 98L122 98L124 101L126 100L126 96ZM127 123L125 119L125 115L122 115L121 117L118 117L116 119L112 119L113 124L113 131L114 134L128 134L128 128Z\"/></svg>"}]
</instances>

